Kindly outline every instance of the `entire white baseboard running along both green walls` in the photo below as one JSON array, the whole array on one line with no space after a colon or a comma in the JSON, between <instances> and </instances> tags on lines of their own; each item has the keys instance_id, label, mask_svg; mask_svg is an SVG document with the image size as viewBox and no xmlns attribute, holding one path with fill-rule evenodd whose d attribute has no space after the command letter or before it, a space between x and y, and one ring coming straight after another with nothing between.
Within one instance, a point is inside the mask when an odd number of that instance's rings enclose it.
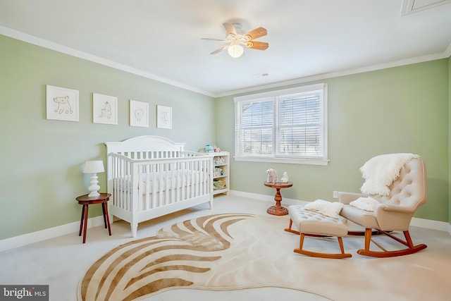
<instances>
[{"instance_id":1,"label":"entire white baseboard running along both green walls","mask_svg":"<svg viewBox=\"0 0 451 301\"><path fill-rule=\"evenodd\" d=\"M265 202L273 202L274 197L271 195L260 195L257 193L242 192L237 190L230 190L230 195L235 195L237 197L245 197L248 199L258 199ZM283 204L293 205L293 204L306 204L306 201L301 201L299 199L289 199L283 198ZM110 219L113 221L112 219ZM87 221L87 228L101 226L104 224L103 216L96 216ZM451 224L445 221L433 221L429 219L412 219L412 226L428 228L438 231L445 231L451 235ZM0 240L0 252L11 250L16 247L22 247L24 245L30 245L34 242L39 242L42 240L48 240L50 238L56 238L61 235L67 235L71 233L77 233L80 230L80 222L74 221L73 223L67 223L66 225L56 226L53 228L44 229L41 231L36 231L32 233L27 233L24 235L15 236L13 238L6 238Z\"/></svg>"}]
</instances>

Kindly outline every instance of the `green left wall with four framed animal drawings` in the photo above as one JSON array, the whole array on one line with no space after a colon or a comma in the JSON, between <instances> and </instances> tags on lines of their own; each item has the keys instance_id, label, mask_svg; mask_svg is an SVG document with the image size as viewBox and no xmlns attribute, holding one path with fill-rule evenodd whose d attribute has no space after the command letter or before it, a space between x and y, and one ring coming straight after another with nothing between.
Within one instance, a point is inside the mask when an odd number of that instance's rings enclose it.
<instances>
[{"instance_id":1,"label":"green left wall with four framed animal drawings","mask_svg":"<svg viewBox=\"0 0 451 301\"><path fill-rule=\"evenodd\" d=\"M89 185L82 164L105 161L106 141L161 135L187 150L214 143L211 97L2 35L0 85L0 240L79 221L75 197ZM80 121L46 119L46 85L79 90ZM92 123L92 92L118 97L117 125ZM149 103L149 128L129 126L129 99ZM157 104L173 108L172 130L156 128ZM105 173L99 182L105 191Z\"/></svg>"}]
</instances>

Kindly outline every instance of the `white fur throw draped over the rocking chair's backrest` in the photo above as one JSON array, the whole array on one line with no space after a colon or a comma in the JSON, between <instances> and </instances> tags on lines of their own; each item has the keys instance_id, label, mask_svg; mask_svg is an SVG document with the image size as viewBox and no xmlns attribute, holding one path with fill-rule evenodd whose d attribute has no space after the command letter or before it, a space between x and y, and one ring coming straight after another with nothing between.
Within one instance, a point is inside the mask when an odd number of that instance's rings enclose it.
<instances>
[{"instance_id":1,"label":"white fur throw draped over the rocking chair's backrest","mask_svg":"<svg viewBox=\"0 0 451 301\"><path fill-rule=\"evenodd\" d=\"M404 164L408 161L419 158L417 154L381 154L366 161L360 168L362 178L365 183L360 188L366 195L389 195L390 186L398 176Z\"/></svg>"}]
</instances>

